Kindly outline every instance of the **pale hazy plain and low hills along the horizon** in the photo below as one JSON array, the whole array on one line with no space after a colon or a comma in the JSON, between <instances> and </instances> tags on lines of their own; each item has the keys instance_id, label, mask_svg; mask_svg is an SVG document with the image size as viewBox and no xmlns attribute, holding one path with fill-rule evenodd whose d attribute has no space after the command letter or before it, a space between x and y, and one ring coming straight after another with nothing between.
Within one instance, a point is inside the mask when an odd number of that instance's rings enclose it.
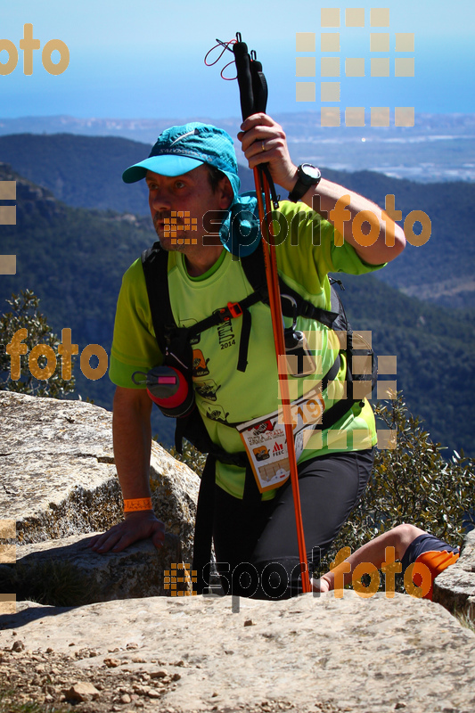
<instances>
[{"instance_id":1,"label":"pale hazy plain and low hills along the horizon","mask_svg":"<svg viewBox=\"0 0 475 713\"><path fill-rule=\"evenodd\" d=\"M372 127L367 112L364 127L321 127L319 111L275 114L288 138L296 164L304 161L347 171L373 170L420 183L475 181L475 114L415 114L414 127ZM204 121L236 135L241 119L170 117L167 119L102 119L70 116L0 119L0 135L62 134L114 136L154 143L164 128ZM239 154L239 152L238 152ZM1 157L0 157L0 160ZM238 159L239 160L239 159Z\"/></svg>"}]
</instances>

